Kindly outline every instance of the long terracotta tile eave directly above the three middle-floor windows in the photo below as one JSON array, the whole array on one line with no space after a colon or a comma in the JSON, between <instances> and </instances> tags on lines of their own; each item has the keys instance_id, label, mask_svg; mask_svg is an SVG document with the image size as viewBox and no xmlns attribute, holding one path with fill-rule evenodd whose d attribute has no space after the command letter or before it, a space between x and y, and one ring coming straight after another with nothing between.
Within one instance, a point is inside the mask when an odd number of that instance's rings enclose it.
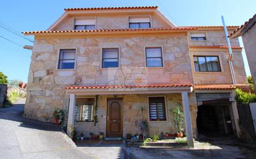
<instances>
[{"instance_id":1,"label":"long terracotta tile eave directly above the three middle-floor windows","mask_svg":"<svg viewBox=\"0 0 256 159\"><path fill-rule=\"evenodd\" d=\"M197 27L137 28L137 29L111 29L111 30L42 30L42 31L22 32L22 33L33 34L33 33L140 32L140 31L196 30L196 29L197 29Z\"/></svg>"}]
</instances>

